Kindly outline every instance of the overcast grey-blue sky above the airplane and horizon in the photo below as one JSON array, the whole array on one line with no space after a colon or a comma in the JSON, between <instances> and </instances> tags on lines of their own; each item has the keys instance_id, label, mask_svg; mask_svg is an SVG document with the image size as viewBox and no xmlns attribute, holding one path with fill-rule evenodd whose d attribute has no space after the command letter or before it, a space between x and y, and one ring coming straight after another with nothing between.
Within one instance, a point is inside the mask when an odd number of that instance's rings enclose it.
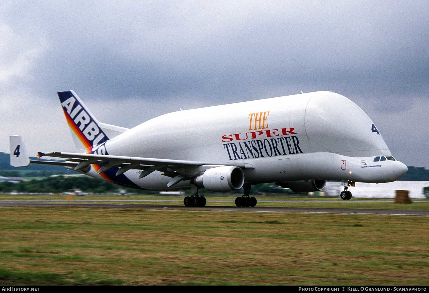
<instances>
[{"instance_id":1,"label":"overcast grey-blue sky above the airplane and horizon","mask_svg":"<svg viewBox=\"0 0 429 293\"><path fill-rule=\"evenodd\" d=\"M16 134L31 155L74 151L63 90L124 127L179 107L332 90L397 159L429 167L427 1L34 2L0 8L2 152Z\"/></svg>"}]
</instances>

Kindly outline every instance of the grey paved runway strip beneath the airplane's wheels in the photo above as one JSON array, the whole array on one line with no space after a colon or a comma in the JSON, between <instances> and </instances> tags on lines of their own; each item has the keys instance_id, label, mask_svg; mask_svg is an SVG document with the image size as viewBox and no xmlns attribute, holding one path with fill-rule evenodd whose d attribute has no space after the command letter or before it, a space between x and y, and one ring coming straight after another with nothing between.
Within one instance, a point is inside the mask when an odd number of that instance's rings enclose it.
<instances>
[{"instance_id":1,"label":"grey paved runway strip beneath the airplane's wheels","mask_svg":"<svg viewBox=\"0 0 429 293\"><path fill-rule=\"evenodd\" d=\"M84 202L82 202L84 201ZM86 202L86 203L85 203ZM147 210L205 210L218 212L297 212L317 214L363 214L363 215L413 215L429 216L429 210L407 209L342 209L342 208L299 208L299 207L236 207L205 206L185 207L182 205L155 205L130 203L88 203L87 200L73 202L55 202L51 200L0 200L0 207L68 207L68 208L105 208L105 209L147 209Z\"/></svg>"}]
</instances>

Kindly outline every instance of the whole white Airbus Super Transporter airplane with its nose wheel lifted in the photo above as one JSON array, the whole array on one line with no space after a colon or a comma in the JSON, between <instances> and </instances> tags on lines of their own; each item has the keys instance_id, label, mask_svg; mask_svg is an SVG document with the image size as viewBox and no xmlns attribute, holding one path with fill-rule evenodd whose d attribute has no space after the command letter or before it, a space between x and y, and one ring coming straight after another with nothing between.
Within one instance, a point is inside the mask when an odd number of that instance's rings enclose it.
<instances>
[{"instance_id":1,"label":"whole white Airbus Super Transporter airplane with its nose wheel lifted","mask_svg":"<svg viewBox=\"0 0 429 293\"><path fill-rule=\"evenodd\" d=\"M319 91L177 111L127 129L99 122L73 90L58 92L76 152L38 152L30 160L21 135L10 137L10 164L52 164L118 185L152 191L191 189L185 206L205 206L198 190L244 194L271 183L295 192L320 191L326 181L392 182L407 173L381 133L355 103Z\"/></svg>"}]
</instances>

